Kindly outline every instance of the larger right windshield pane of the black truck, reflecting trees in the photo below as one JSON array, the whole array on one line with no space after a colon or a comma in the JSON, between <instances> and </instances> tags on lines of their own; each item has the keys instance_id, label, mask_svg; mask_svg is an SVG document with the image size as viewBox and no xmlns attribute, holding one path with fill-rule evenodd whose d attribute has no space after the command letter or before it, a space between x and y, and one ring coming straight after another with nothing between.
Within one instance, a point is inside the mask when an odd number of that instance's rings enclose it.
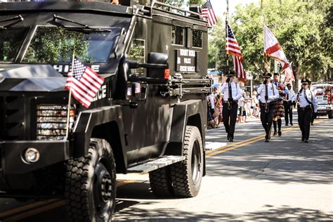
<instances>
[{"instance_id":1,"label":"larger right windshield pane of the black truck, reflecting trees","mask_svg":"<svg viewBox=\"0 0 333 222\"><path fill-rule=\"evenodd\" d=\"M84 63L106 63L120 29L89 33L61 27L38 27L23 63L70 63L72 53Z\"/></svg>"}]
</instances>

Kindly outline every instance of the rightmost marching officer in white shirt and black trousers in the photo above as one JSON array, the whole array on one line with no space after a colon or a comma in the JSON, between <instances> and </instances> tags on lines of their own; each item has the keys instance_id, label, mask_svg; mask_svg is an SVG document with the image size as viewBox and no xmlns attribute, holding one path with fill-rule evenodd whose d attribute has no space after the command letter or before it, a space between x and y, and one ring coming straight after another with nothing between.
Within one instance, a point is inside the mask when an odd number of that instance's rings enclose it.
<instances>
[{"instance_id":1,"label":"rightmost marching officer in white shirt and black trousers","mask_svg":"<svg viewBox=\"0 0 333 222\"><path fill-rule=\"evenodd\" d=\"M308 138L310 136L310 123L313 111L316 113L318 110L318 102L315 97L315 93L309 89L310 81L308 79L302 79L302 89L297 93L292 101L298 102L297 112L299 114L299 129L302 132L302 141L308 143Z\"/></svg>"}]
</instances>

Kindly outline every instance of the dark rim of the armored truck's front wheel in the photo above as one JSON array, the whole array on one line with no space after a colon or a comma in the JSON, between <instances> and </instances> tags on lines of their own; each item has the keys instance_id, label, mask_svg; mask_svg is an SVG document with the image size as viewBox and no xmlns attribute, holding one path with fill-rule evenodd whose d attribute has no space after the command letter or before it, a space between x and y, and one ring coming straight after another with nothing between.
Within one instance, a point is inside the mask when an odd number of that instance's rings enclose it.
<instances>
[{"instance_id":1,"label":"dark rim of the armored truck's front wheel","mask_svg":"<svg viewBox=\"0 0 333 222\"><path fill-rule=\"evenodd\" d=\"M100 218L110 214L112 200L112 178L105 164L99 161L96 164L93 177L93 200L95 203L96 213Z\"/></svg>"}]
</instances>

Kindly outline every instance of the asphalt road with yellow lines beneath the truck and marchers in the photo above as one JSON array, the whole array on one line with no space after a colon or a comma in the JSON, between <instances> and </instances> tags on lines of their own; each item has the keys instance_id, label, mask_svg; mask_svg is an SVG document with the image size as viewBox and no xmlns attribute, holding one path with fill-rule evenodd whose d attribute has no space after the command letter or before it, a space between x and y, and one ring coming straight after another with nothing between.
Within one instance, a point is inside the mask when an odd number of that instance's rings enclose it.
<instances>
[{"instance_id":1,"label":"asphalt road with yellow lines beneath the truck and marchers","mask_svg":"<svg viewBox=\"0 0 333 222\"><path fill-rule=\"evenodd\" d=\"M259 119L237 124L235 142L207 152L207 176L194 198L159 199L150 192L148 175L118 176L114 220L333 221L333 120L317 119L309 143L301 142L294 124L283 126L282 136L270 143L263 142ZM208 131L207 142L227 142L223 127ZM0 209L15 211L13 206L0 202ZM63 207L55 206L22 221L64 216Z\"/></svg>"}]
</instances>

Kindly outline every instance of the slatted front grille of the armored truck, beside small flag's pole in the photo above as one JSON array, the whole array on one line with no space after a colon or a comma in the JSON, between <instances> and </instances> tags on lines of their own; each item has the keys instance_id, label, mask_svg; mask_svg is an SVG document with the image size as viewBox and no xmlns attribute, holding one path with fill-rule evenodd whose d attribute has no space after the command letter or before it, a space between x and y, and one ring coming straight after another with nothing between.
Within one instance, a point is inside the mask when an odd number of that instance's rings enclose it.
<instances>
[{"instance_id":1,"label":"slatted front grille of the armored truck, beside small flag's pole","mask_svg":"<svg viewBox=\"0 0 333 222\"><path fill-rule=\"evenodd\" d=\"M38 141L62 141L66 138L66 127L67 105L37 105Z\"/></svg>"}]
</instances>

